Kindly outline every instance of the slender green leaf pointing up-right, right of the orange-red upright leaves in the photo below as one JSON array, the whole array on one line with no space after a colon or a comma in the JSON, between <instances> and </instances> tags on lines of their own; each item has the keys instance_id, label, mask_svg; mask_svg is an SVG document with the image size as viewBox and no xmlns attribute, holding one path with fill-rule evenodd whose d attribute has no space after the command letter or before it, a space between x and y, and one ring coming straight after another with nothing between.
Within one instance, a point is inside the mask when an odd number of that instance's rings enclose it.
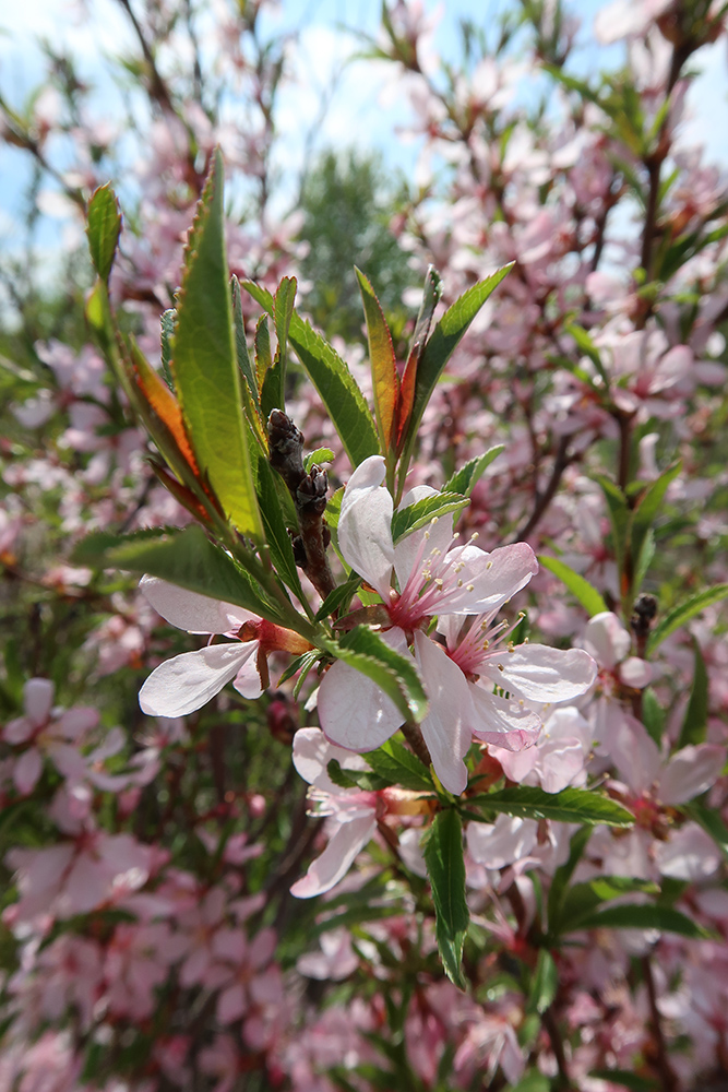
<instances>
[{"instance_id":1,"label":"slender green leaf pointing up-right, right of the orange-red upright leaves","mask_svg":"<svg viewBox=\"0 0 728 1092\"><path fill-rule=\"evenodd\" d=\"M457 344L473 322L482 305L490 294L498 287L503 277L510 272L513 262L503 265L485 281L478 281L467 292L455 300L447 308L432 334L427 342L417 366L417 378L415 381L415 399L407 426L407 439L405 443L405 465L408 463L408 455L415 446L419 423L422 419L425 408L432 396L443 368L455 352Z\"/></svg>"}]
</instances>

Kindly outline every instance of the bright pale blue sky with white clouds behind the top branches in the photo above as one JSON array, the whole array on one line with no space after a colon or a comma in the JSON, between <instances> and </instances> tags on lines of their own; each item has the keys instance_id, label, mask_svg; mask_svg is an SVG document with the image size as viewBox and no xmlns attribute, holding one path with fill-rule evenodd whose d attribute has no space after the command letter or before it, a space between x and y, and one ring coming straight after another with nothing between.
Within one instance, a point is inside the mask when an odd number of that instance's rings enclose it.
<instances>
[{"instance_id":1,"label":"bright pale blue sky with white clouds behind the top branches","mask_svg":"<svg viewBox=\"0 0 728 1092\"><path fill-rule=\"evenodd\" d=\"M437 32L437 48L444 57L454 58L457 49L457 24L473 19L481 25L503 10L509 0L446 0L437 4L427 0L428 11L443 11ZM596 70L606 60L621 56L621 46L605 55L593 40L592 26L596 12L605 0L580 0L572 3L582 20L582 45L576 63L584 72ZM98 85L97 109L114 115L118 102L114 85L105 75L104 55L117 51L124 44L133 46L128 26L116 0L88 0L88 16L77 19L79 5L72 0L20 0L5 3L0 13L0 88L11 103L29 94L43 73L38 36L67 43L79 57L80 71ZM76 17L73 16L75 11ZM279 127L282 167L291 176L302 156L302 130L319 111L321 94L329 87L332 74L356 47L356 39L341 27L348 26L374 35L379 25L380 5L375 0L282 0L278 14L270 20L271 29L298 31L301 49L298 54L298 82L283 96ZM69 13L71 12L71 14ZM728 164L725 132L728 130L725 39L699 55L705 74L696 82L692 96L694 119L689 122L690 135L707 145L711 158ZM408 118L403 98L381 103L381 88L386 67L360 62L341 75L331 108L318 134L318 143L356 144L378 147L386 162L405 170L411 169L416 147L397 133ZM0 146L0 242L13 245L21 194L27 185L27 157ZM291 182L293 185L293 182ZM48 223L44 242L59 238L60 223Z\"/></svg>"}]
</instances>

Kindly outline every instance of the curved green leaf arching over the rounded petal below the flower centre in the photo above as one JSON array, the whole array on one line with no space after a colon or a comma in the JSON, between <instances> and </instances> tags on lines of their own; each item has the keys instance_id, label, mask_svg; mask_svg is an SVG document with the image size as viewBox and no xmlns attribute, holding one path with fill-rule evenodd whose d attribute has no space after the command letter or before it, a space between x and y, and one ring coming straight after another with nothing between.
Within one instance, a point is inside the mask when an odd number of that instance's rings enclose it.
<instances>
[{"instance_id":1,"label":"curved green leaf arching over the rounded petal below the flower centre","mask_svg":"<svg viewBox=\"0 0 728 1092\"><path fill-rule=\"evenodd\" d=\"M411 658L399 655L367 626L357 626L338 641L324 638L322 648L372 679L392 699L403 721L425 719L427 695Z\"/></svg>"}]
</instances>

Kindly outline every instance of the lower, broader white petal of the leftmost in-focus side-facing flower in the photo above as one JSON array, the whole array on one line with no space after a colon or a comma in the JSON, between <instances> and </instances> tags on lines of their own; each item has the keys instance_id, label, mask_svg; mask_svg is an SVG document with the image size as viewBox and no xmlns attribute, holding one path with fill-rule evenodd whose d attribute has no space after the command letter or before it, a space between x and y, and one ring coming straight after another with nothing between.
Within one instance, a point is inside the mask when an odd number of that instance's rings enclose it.
<instances>
[{"instance_id":1,"label":"lower, broader white petal of the leftmost in-focus side-facing flower","mask_svg":"<svg viewBox=\"0 0 728 1092\"><path fill-rule=\"evenodd\" d=\"M150 716L192 713L219 693L256 651L258 641L235 641L184 652L152 672L139 692L139 703Z\"/></svg>"}]
</instances>

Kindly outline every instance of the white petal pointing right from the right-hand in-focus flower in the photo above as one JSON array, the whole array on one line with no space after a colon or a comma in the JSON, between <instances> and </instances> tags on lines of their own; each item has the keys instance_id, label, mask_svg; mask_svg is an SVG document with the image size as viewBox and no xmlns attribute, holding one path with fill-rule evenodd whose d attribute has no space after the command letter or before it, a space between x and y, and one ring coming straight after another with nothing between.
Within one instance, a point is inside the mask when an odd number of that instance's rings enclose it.
<instances>
[{"instance_id":1,"label":"white petal pointing right from the right-hand in-focus flower","mask_svg":"<svg viewBox=\"0 0 728 1092\"><path fill-rule=\"evenodd\" d=\"M484 672L493 682L530 701L568 701L594 682L597 665L581 649L550 649L547 644L520 644ZM499 668L502 665L503 670Z\"/></svg>"}]
</instances>

